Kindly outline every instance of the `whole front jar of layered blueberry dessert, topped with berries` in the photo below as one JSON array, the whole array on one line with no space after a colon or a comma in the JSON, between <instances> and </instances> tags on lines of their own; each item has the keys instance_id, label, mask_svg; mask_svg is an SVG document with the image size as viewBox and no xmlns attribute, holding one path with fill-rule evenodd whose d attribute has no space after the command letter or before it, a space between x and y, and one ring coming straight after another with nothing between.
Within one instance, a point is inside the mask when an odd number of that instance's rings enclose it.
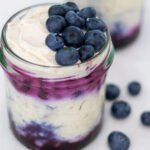
<instances>
[{"instance_id":1,"label":"whole front jar of layered blueberry dessert, topped with berries","mask_svg":"<svg viewBox=\"0 0 150 150\"><path fill-rule=\"evenodd\" d=\"M105 23L74 3L24 9L2 31L11 129L32 150L76 150L102 126L113 60Z\"/></svg>"}]
</instances>

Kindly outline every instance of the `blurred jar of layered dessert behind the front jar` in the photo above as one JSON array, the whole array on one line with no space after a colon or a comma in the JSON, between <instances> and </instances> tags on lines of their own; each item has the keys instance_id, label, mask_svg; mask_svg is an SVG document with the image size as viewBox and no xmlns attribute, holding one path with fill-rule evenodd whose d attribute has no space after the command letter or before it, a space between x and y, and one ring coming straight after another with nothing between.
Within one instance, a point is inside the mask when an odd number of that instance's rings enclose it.
<instances>
[{"instance_id":1,"label":"blurred jar of layered dessert behind the front jar","mask_svg":"<svg viewBox=\"0 0 150 150\"><path fill-rule=\"evenodd\" d=\"M124 47L139 35L143 0L73 0L81 7L93 6L106 20L114 46Z\"/></svg>"}]
</instances>

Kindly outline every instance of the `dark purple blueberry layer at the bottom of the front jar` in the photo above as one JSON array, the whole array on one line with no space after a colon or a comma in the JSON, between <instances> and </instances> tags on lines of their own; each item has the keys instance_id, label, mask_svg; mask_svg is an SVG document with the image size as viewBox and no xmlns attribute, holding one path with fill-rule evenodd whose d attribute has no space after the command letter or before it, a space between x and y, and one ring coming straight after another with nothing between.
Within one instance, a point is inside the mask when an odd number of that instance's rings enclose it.
<instances>
[{"instance_id":1,"label":"dark purple blueberry layer at the bottom of the front jar","mask_svg":"<svg viewBox=\"0 0 150 150\"><path fill-rule=\"evenodd\" d=\"M31 122L25 127L16 127L9 115L11 130L15 137L26 147L32 150L80 150L91 143L102 128L102 119L99 124L84 138L77 142L60 141L53 133L57 127ZM59 128L59 127L58 127Z\"/></svg>"}]
</instances>

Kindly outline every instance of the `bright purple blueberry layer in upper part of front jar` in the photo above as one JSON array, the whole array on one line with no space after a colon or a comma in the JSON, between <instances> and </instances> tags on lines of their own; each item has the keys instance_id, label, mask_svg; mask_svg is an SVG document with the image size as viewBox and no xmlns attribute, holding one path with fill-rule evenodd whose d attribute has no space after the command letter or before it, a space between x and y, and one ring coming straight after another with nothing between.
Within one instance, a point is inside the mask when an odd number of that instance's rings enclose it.
<instances>
[{"instance_id":1,"label":"bright purple blueberry layer in upper part of front jar","mask_svg":"<svg viewBox=\"0 0 150 150\"><path fill-rule=\"evenodd\" d=\"M104 83L105 76L106 69L101 65L83 78L65 81L50 81L20 72L8 73L9 80L17 91L42 100L76 98L91 91L98 91Z\"/></svg>"}]
</instances>

